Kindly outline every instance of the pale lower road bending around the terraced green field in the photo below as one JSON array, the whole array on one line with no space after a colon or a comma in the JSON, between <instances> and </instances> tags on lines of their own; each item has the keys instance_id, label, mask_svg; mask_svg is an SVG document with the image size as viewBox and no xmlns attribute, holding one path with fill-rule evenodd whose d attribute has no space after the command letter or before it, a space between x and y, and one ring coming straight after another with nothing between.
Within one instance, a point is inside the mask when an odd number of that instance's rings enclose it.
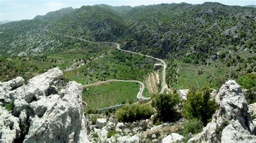
<instances>
[{"instance_id":1,"label":"pale lower road bending around the terraced green field","mask_svg":"<svg viewBox=\"0 0 256 143\"><path fill-rule=\"evenodd\" d=\"M150 99L150 97L144 97L143 96L143 91L145 89L145 84L143 82L140 82L140 81L134 81L134 80L107 80L107 81L100 81L100 82L96 82L96 83L92 83L92 84L83 85L83 87L90 87L90 86L93 86L93 85L99 85L99 84L103 84L103 83L107 83L107 82L114 82L114 81L119 81L119 82L137 82L137 83L140 84L140 88L139 88L139 92L137 94L137 98L138 99L145 99L145 100Z\"/></svg>"}]
</instances>

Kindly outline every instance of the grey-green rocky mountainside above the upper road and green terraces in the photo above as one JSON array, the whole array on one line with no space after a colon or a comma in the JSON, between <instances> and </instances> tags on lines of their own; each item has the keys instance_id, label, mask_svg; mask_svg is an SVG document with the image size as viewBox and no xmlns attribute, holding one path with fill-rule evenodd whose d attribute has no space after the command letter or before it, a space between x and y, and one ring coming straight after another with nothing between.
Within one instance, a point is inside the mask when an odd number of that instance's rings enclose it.
<instances>
[{"instance_id":1,"label":"grey-green rocky mountainside above the upper road and green terraces","mask_svg":"<svg viewBox=\"0 0 256 143\"><path fill-rule=\"evenodd\" d=\"M227 49L253 52L255 17L254 8L209 2L66 8L1 25L0 51L1 56L31 51L53 42L49 35L54 32L120 42L125 49L157 58L188 56L204 61ZM46 51L38 51L42 52Z\"/></svg>"}]
</instances>

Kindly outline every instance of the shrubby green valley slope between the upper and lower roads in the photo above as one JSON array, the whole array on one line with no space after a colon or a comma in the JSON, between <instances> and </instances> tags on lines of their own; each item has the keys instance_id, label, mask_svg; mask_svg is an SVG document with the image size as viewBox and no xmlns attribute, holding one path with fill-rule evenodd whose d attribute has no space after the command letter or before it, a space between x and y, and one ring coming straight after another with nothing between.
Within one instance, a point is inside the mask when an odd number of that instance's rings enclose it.
<instances>
[{"instance_id":1,"label":"shrubby green valley slope between the upper and lower roads","mask_svg":"<svg viewBox=\"0 0 256 143\"><path fill-rule=\"evenodd\" d=\"M69 45L71 49L57 54L0 58L0 81L10 80L16 76L22 76L27 81L50 68L58 66L64 70L81 60L86 61L84 66L64 71L64 77L68 81L76 81L83 85L108 79L143 81L153 70L155 61L151 58L118 51L113 44L84 43Z\"/></svg>"}]
</instances>

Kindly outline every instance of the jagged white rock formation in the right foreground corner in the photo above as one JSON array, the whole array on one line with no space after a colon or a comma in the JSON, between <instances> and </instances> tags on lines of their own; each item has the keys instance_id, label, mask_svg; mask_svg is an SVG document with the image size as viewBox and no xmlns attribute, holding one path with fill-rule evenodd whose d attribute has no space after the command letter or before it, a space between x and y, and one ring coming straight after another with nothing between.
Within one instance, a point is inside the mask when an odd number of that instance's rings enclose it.
<instances>
[{"instance_id":1,"label":"jagged white rock formation in the right foreground corner","mask_svg":"<svg viewBox=\"0 0 256 143\"><path fill-rule=\"evenodd\" d=\"M234 80L227 81L215 100L219 109L211 123L188 142L256 142L256 127L240 86Z\"/></svg>"}]
</instances>

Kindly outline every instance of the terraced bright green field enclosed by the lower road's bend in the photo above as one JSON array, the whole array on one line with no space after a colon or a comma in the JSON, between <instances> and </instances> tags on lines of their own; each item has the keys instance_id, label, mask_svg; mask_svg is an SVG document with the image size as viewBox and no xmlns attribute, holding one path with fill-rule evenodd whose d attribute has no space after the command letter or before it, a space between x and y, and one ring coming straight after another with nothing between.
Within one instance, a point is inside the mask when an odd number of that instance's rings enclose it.
<instances>
[{"instance_id":1,"label":"terraced bright green field enclosed by the lower road's bend","mask_svg":"<svg viewBox=\"0 0 256 143\"><path fill-rule=\"evenodd\" d=\"M134 82L110 82L83 89L83 100L88 109L100 109L111 105L136 101L139 84Z\"/></svg>"}]
</instances>

